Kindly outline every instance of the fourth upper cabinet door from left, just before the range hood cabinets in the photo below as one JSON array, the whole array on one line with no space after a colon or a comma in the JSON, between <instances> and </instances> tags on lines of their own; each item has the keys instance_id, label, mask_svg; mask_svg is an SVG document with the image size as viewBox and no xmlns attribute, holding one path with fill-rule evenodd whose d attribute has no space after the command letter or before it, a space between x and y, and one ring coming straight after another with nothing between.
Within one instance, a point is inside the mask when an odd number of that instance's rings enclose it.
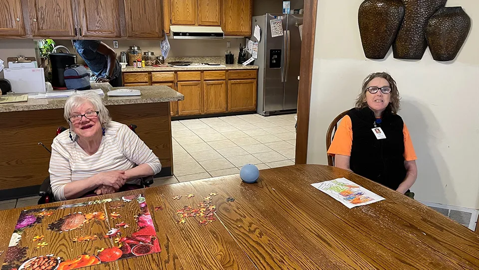
<instances>
[{"instance_id":1,"label":"fourth upper cabinet door from left, just before the range hood cabinets","mask_svg":"<svg viewBox=\"0 0 479 270\"><path fill-rule=\"evenodd\" d=\"M126 37L163 37L162 3L159 0L124 0Z\"/></svg>"}]
</instances>

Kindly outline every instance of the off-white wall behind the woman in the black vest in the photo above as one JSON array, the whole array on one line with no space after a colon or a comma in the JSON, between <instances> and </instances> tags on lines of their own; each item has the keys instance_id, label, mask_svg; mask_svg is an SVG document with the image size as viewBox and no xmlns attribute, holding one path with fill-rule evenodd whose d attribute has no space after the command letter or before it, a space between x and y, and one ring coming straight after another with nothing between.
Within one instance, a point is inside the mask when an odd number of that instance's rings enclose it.
<instances>
[{"instance_id":1,"label":"off-white wall behind the woman in the black vest","mask_svg":"<svg viewBox=\"0 0 479 270\"><path fill-rule=\"evenodd\" d=\"M453 62L366 59L357 13L362 0L319 0L314 46L308 163L327 164L325 135L353 107L361 81L387 71L402 96L399 115L418 155L416 199L479 209L479 1L449 0L472 18L469 37ZM331 12L334 10L334 12Z\"/></svg>"}]
</instances>

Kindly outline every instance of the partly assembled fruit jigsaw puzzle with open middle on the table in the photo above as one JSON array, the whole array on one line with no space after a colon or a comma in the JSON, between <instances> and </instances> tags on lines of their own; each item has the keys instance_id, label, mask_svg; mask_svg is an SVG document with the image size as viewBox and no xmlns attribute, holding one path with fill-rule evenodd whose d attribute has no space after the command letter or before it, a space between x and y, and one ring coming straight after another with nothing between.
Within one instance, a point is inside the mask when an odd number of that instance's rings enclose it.
<instances>
[{"instance_id":1,"label":"partly assembled fruit jigsaw puzzle with open middle on the table","mask_svg":"<svg viewBox=\"0 0 479 270\"><path fill-rule=\"evenodd\" d=\"M23 210L1 270L70 270L160 252L143 194Z\"/></svg>"}]
</instances>

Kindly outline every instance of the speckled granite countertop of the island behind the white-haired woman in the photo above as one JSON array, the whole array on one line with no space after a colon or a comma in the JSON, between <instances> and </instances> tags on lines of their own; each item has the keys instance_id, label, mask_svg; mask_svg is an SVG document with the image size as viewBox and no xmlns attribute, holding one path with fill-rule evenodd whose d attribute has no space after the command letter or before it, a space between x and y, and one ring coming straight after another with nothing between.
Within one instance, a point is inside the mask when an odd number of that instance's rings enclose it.
<instances>
[{"instance_id":1,"label":"speckled granite countertop of the island behind the white-haired woman","mask_svg":"<svg viewBox=\"0 0 479 270\"><path fill-rule=\"evenodd\" d=\"M176 92L168 86L136 86L136 87L112 87L109 83L92 83L91 89L101 89L105 96L102 97L103 104L108 105L125 105L125 104L141 104L141 103L158 103L184 100L185 96ZM130 97L109 97L106 95L108 91L115 89L137 89L140 90L141 96ZM0 113L18 112L18 111L34 111L61 109L65 105L66 98L58 99L31 99L27 102L0 104Z\"/></svg>"}]
</instances>

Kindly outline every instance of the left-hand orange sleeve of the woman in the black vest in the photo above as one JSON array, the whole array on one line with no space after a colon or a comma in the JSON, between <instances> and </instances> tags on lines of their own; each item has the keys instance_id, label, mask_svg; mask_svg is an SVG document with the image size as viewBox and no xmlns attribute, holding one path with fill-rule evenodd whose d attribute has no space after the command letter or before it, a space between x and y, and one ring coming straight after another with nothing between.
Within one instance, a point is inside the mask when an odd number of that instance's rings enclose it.
<instances>
[{"instance_id":1,"label":"left-hand orange sleeve of the woman in the black vest","mask_svg":"<svg viewBox=\"0 0 479 270\"><path fill-rule=\"evenodd\" d=\"M334 134L333 141L328 149L328 154L331 156L335 154L351 156L352 145L353 129L351 118L345 116L341 119L341 122L339 122L338 130Z\"/></svg>"}]
</instances>

